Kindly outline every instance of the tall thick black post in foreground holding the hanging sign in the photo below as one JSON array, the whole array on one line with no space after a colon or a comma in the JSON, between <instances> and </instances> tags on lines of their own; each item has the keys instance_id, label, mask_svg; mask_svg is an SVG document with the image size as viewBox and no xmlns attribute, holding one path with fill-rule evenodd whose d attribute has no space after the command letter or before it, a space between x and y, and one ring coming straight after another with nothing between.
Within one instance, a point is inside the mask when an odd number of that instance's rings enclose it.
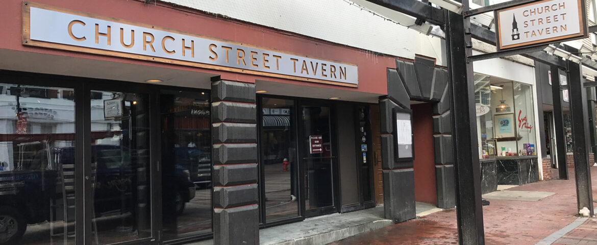
<instances>
[{"instance_id":1,"label":"tall thick black post in foreground holding the hanging sign","mask_svg":"<svg viewBox=\"0 0 597 245\"><path fill-rule=\"evenodd\" d=\"M469 1L462 3L463 11L467 11ZM458 242L485 244L473 64L467 62L467 57L472 55L470 20L450 11L446 13Z\"/></svg>"}]
</instances>

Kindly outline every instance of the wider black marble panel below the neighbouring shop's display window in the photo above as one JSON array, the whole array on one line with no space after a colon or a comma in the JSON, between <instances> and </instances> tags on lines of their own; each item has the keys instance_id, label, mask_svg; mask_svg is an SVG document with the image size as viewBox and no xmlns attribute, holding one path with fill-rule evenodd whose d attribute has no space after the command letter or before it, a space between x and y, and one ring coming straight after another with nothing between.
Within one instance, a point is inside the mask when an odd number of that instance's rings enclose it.
<instances>
[{"instance_id":1,"label":"wider black marble panel below the neighbouring shop's display window","mask_svg":"<svg viewBox=\"0 0 597 245\"><path fill-rule=\"evenodd\" d=\"M498 185L525 185L539 180L536 156L496 159Z\"/></svg>"}]
</instances>

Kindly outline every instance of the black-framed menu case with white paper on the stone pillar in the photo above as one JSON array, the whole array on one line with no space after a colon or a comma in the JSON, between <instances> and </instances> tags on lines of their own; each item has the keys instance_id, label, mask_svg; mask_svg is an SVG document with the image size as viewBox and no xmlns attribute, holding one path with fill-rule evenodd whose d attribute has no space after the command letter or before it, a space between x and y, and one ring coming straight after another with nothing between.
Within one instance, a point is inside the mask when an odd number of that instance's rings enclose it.
<instances>
[{"instance_id":1,"label":"black-framed menu case with white paper on the stone pillar","mask_svg":"<svg viewBox=\"0 0 597 245\"><path fill-rule=\"evenodd\" d=\"M413 111L394 108L393 130L394 130L394 161L413 161Z\"/></svg>"}]
</instances>

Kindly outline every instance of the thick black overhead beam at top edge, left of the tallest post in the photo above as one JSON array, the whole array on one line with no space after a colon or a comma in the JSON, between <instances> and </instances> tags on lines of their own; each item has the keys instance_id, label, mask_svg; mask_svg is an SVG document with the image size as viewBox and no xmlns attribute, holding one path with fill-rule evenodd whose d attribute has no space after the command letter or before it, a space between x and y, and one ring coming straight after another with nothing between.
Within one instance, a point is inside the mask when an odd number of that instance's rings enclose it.
<instances>
[{"instance_id":1,"label":"thick black overhead beam at top edge, left of the tallest post","mask_svg":"<svg viewBox=\"0 0 597 245\"><path fill-rule=\"evenodd\" d=\"M445 23L444 10L417 0L367 0L417 19L443 26Z\"/></svg>"}]
</instances>

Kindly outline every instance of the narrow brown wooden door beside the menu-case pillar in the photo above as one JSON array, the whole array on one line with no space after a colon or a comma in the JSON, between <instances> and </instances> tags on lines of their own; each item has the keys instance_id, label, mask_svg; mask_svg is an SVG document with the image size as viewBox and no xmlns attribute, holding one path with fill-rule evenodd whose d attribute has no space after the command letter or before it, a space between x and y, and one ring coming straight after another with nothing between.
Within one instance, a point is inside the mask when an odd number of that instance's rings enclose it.
<instances>
[{"instance_id":1,"label":"narrow brown wooden door beside the menu-case pillar","mask_svg":"<svg viewBox=\"0 0 597 245\"><path fill-rule=\"evenodd\" d=\"M383 177L381 173L381 133L379 105L370 106L371 146L373 149L373 184L376 205L383 204Z\"/></svg>"}]
</instances>

